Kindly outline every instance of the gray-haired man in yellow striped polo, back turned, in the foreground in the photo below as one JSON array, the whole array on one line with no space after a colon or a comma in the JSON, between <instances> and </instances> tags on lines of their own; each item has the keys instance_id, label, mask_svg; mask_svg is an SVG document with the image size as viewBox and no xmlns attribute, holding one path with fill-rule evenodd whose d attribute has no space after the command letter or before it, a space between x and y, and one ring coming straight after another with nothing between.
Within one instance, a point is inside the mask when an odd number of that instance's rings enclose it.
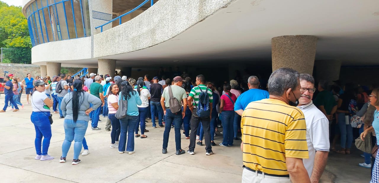
<instances>
[{"instance_id":1,"label":"gray-haired man in yellow striped polo, back turned, in the foreground","mask_svg":"<svg viewBox=\"0 0 379 183\"><path fill-rule=\"evenodd\" d=\"M268 81L269 98L250 102L242 113L242 182L309 183L299 73L279 68Z\"/></svg>"}]
</instances>

